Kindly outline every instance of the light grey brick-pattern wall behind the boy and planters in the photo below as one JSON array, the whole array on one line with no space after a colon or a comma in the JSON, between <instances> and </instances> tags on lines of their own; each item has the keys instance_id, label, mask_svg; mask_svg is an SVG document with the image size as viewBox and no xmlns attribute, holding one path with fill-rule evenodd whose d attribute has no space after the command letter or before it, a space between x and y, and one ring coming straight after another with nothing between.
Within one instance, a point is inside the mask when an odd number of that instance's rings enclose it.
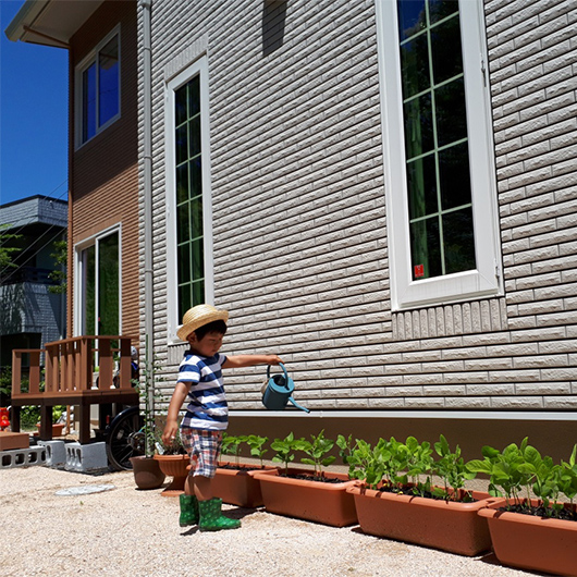
<instances>
[{"instance_id":1,"label":"light grey brick-pattern wall behind the boy and planters","mask_svg":"<svg viewBox=\"0 0 577 577\"><path fill-rule=\"evenodd\" d=\"M184 346L167 346L164 75L206 39L224 353L279 353L312 409L576 408L570 2L484 4L504 296L403 314L389 293L373 2L286 2L272 44L267 2L194 5L156 0L152 12L154 337L165 391ZM262 367L230 373L231 407L262 408L263 378Z\"/></svg>"}]
</instances>

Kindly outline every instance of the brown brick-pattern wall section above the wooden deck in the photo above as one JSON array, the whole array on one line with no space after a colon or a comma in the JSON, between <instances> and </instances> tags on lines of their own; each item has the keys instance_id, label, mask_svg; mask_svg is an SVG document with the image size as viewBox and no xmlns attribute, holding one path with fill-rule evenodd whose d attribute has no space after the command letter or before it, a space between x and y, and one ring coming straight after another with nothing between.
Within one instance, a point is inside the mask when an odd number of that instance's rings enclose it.
<instances>
[{"instance_id":1,"label":"brown brick-pattern wall section above the wooden deck","mask_svg":"<svg viewBox=\"0 0 577 577\"><path fill-rule=\"evenodd\" d=\"M137 337L138 327L138 110L137 2L106 1L71 39L74 67L120 23L121 118L75 149L70 125L70 263L74 246L108 226L121 224L122 333ZM74 90L71 91L72 97ZM72 270L72 268L70 269ZM71 283L72 285L72 283ZM69 334L73 334L73 286L69 288Z\"/></svg>"}]
</instances>

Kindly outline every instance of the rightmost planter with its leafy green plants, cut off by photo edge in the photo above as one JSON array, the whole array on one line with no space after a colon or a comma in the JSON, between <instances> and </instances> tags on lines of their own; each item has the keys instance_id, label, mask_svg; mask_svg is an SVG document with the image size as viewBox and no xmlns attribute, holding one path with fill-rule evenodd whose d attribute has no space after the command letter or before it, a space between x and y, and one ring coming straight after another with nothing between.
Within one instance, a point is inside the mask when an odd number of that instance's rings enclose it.
<instances>
[{"instance_id":1,"label":"rightmost planter with its leafy green plants, cut off by photo edge","mask_svg":"<svg viewBox=\"0 0 577 577\"><path fill-rule=\"evenodd\" d=\"M482 455L467 467L489 475L490 493L505 498L479 511L489 523L496 558L513 567L576 575L577 445L561 464L542 457L527 438L503 451L484 446ZM521 490L527 498L520 496Z\"/></svg>"}]
</instances>

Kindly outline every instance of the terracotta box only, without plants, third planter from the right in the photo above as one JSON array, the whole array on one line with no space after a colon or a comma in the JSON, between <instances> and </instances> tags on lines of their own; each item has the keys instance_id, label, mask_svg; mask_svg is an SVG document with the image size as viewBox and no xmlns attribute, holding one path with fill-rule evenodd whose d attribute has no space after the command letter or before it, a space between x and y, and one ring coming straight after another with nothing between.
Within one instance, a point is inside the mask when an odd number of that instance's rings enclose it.
<instances>
[{"instance_id":1,"label":"terracotta box only, without plants, third planter from the right","mask_svg":"<svg viewBox=\"0 0 577 577\"><path fill-rule=\"evenodd\" d=\"M310 470L290 468L288 474L310 474ZM268 512L333 527L356 525L355 501L346 491L358 481L349 481L347 475L339 472L326 472L324 476L343 482L293 479L281 476L279 470L256 474Z\"/></svg>"}]
</instances>

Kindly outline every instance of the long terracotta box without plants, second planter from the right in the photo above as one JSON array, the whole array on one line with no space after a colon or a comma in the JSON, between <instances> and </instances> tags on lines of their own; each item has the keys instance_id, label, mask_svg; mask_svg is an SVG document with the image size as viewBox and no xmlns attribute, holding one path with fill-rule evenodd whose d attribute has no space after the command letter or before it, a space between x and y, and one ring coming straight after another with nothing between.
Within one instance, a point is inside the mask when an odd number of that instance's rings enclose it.
<instances>
[{"instance_id":1,"label":"long terracotta box without plants, second planter from the right","mask_svg":"<svg viewBox=\"0 0 577 577\"><path fill-rule=\"evenodd\" d=\"M477 491L472 492L474 503L440 501L373 491L360 484L347 492L355 498L364 532L468 556L491 549L489 528L477 512L503 501Z\"/></svg>"}]
</instances>

